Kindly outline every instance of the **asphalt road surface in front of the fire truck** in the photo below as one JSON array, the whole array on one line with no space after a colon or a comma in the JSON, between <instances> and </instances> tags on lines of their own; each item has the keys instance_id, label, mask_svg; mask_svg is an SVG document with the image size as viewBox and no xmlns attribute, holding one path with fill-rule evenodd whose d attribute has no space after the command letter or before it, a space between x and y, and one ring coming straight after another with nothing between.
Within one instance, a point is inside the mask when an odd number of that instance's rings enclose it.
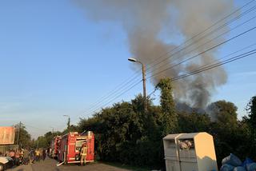
<instances>
[{"instance_id":1,"label":"asphalt road surface in front of the fire truck","mask_svg":"<svg viewBox=\"0 0 256 171\"><path fill-rule=\"evenodd\" d=\"M14 169L8 169L7 171L127 171L127 169L120 169L111 165L102 163L90 163L85 166L79 165L60 165L56 166L57 161L46 158L46 161L35 162L29 165L20 165Z\"/></svg>"}]
</instances>

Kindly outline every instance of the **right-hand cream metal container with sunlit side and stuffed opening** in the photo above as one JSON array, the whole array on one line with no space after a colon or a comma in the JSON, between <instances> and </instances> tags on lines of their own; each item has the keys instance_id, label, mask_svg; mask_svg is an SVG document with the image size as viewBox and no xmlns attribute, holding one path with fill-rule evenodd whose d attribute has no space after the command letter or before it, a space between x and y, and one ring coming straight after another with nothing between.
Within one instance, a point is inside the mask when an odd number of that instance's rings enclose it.
<instances>
[{"instance_id":1,"label":"right-hand cream metal container with sunlit side and stuffed opening","mask_svg":"<svg viewBox=\"0 0 256 171\"><path fill-rule=\"evenodd\" d=\"M213 137L209 133L184 133L178 137L181 171L217 171Z\"/></svg>"}]
</instances>

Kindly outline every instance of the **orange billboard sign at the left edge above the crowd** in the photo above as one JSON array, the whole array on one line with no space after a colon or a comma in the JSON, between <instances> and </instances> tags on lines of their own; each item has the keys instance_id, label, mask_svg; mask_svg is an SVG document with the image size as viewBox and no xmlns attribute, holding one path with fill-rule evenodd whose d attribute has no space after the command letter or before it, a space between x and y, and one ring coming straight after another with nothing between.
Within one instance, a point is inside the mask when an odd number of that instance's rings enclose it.
<instances>
[{"instance_id":1,"label":"orange billboard sign at the left edge above the crowd","mask_svg":"<svg viewBox=\"0 0 256 171\"><path fill-rule=\"evenodd\" d=\"M0 145L13 145L15 137L14 127L0 126Z\"/></svg>"}]
</instances>

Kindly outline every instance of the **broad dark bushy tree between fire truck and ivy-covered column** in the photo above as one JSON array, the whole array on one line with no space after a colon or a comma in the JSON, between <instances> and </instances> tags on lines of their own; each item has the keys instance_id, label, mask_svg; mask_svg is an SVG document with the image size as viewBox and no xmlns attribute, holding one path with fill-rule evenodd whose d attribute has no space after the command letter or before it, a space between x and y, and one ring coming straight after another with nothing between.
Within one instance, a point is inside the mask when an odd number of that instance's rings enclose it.
<instances>
[{"instance_id":1,"label":"broad dark bushy tree between fire truck and ivy-covered column","mask_svg":"<svg viewBox=\"0 0 256 171\"><path fill-rule=\"evenodd\" d=\"M130 102L114 104L79 122L79 131L94 131L98 159L157 168L162 165L162 132L156 119L161 109L148 99L145 115L143 101L139 94Z\"/></svg>"}]
</instances>

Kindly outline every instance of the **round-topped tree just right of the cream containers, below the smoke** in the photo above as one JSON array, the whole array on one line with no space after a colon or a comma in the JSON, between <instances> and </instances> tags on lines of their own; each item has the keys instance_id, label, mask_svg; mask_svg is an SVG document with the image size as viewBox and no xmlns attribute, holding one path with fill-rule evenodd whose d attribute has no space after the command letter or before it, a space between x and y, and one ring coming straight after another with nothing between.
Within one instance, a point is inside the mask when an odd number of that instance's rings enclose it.
<instances>
[{"instance_id":1,"label":"round-topped tree just right of the cream containers, below the smoke","mask_svg":"<svg viewBox=\"0 0 256 171\"><path fill-rule=\"evenodd\" d=\"M237 109L238 107L234 103L224 100L215 101L208 106L210 117L214 118L210 124L210 133L214 136L218 165L221 165L222 158L230 155L230 153L243 157L238 149L246 137L241 136L241 134L238 135L243 130L237 118Z\"/></svg>"}]
</instances>

